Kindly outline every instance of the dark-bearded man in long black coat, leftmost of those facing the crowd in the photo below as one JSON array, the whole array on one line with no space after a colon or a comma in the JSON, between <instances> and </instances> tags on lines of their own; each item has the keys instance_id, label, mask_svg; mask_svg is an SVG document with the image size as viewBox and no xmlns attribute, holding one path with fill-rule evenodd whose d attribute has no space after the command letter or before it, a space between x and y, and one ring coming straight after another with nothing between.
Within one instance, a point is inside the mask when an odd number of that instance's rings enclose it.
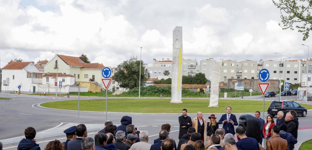
<instances>
[{"instance_id":1,"label":"dark-bearded man in long black coat, leftmost of those facing the crowd","mask_svg":"<svg viewBox=\"0 0 312 150\"><path fill-rule=\"evenodd\" d=\"M182 116L179 117L180 124L179 140L182 138L184 134L188 133L188 128L192 127L192 119L191 117L187 116L187 113L188 110L183 109Z\"/></svg>"}]
</instances>

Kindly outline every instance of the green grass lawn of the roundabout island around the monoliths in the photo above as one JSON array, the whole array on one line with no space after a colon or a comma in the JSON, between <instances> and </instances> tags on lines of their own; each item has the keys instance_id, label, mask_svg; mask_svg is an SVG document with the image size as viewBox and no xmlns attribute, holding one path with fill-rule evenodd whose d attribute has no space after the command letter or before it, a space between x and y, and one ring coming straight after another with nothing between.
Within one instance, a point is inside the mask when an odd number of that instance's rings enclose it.
<instances>
[{"instance_id":1,"label":"green grass lawn of the roundabout island around the monoliths","mask_svg":"<svg viewBox=\"0 0 312 150\"><path fill-rule=\"evenodd\" d=\"M263 111L263 101L255 100L223 100L219 99L219 107L207 107L209 99L182 99L182 104L170 103L170 99L108 99L108 112L133 113L181 113L186 108L188 113L224 113L227 106L232 107L232 113ZM271 101L265 102L265 112ZM301 104L307 109L312 105ZM78 100L58 101L41 104L43 107L78 110ZM80 110L105 111L105 99L80 100Z\"/></svg>"}]
</instances>

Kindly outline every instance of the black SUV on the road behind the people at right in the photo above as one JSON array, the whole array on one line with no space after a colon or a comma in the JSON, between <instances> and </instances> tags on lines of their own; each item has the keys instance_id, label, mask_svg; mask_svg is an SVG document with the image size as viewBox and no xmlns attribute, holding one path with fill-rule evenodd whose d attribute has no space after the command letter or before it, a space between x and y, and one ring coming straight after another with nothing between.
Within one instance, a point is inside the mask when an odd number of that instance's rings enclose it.
<instances>
[{"instance_id":1,"label":"black SUV on the road behind the people at right","mask_svg":"<svg viewBox=\"0 0 312 150\"><path fill-rule=\"evenodd\" d=\"M289 110L295 110L297 116L301 115L302 117L305 117L307 115L307 109L305 107L290 100L273 101L269 106L268 114L271 114L274 117L279 111L283 111L285 117Z\"/></svg>"}]
</instances>

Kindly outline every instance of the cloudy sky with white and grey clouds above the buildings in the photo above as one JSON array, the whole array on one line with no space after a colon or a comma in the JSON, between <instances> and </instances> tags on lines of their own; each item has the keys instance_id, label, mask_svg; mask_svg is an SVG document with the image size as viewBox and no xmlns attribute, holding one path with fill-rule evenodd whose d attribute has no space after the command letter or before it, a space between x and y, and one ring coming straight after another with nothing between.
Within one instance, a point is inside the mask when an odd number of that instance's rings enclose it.
<instances>
[{"instance_id":1,"label":"cloudy sky with white and grey clouds above the buildings","mask_svg":"<svg viewBox=\"0 0 312 150\"><path fill-rule=\"evenodd\" d=\"M271 0L0 0L1 67L15 58L88 56L115 67L130 56L172 60L172 31L183 27L183 58L307 58L311 38L278 26ZM312 44L310 44L312 46ZM312 54L311 54L312 57ZM198 61L199 63L199 61Z\"/></svg>"}]
</instances>

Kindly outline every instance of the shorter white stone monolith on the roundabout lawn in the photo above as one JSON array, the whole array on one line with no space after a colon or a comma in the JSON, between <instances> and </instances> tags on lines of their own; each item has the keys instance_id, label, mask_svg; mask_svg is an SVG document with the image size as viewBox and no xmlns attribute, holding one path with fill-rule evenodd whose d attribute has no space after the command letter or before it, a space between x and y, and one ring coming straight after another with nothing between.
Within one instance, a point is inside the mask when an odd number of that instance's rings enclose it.
<instances>
[{"instance_id":1,"label":"shorter white stone monolith on the roundabout lawn","mask_svg":"<svg viewBox=\"0 0 312 150\"><path fill-rule=\"evenodd\" d=\"M210 68L211 73L211 91L210 91L210 101L208 107L218 107L219 100L219 81L220 81L220 62L212 63Z\"/></svg>"}]
</instances>

